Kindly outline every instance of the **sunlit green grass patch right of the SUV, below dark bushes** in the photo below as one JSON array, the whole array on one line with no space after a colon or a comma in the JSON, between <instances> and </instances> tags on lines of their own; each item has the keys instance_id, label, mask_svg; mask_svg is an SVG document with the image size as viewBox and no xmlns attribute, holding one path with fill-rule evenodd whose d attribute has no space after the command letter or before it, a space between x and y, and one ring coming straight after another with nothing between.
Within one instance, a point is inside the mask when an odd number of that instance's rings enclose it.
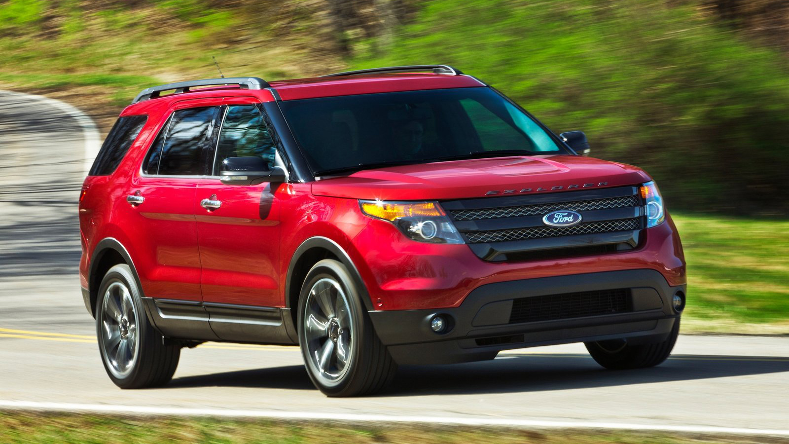
<instances>
[{"instance_id":1,"label":"sunlit green grass patch right of the SUV, below dark bushes","mask_svg":"<svg viewBox=\"0 0 789 444\"><path fill-rule=\"evenodd\" d=\"M789 220L673 217L688 263L686 331L789 333Z\"/></svg>"}]
</instances>

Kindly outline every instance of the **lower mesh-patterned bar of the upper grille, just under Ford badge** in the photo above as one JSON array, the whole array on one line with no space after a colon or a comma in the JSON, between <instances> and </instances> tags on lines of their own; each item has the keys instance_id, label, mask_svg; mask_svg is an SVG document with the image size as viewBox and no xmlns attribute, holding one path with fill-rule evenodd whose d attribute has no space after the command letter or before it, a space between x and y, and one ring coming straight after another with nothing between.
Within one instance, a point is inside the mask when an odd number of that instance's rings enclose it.
<instances>
[{"instance_id":1,"label":"lower mesh-patterned bar of the upper grille, just under Ford badge","mask_svg":"<svg viewBox=\"0 0 789 444\"><path fill-rule=\"evenodd\" d=\"M476 231L466 233L469 243L501 242L507 240L540 239L566 235L587 235L590 233L608 233L611 231L638 230L641 221L632 219L605 220L573 227L535 227L516 228L514 230Z\"/></svg>"}]
</instances>

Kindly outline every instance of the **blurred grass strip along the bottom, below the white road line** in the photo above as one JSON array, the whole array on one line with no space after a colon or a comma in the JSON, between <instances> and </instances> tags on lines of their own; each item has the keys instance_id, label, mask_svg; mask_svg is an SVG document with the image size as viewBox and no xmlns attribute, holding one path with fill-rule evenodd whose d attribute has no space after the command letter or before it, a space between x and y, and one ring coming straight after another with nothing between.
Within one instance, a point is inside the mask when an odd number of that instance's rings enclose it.
<instances>
[{"instance_id":1,"label":"blurred grass strip along the bottom, below the white road line","mask_svg":"<svg viewBox=\"0 0 789 444\"><path fill-rule=\"evenodd\" d=\"M490 427L424 425L353 426L211 418L124 418L77 414L0 412L3 444L690 444L787 443L785 438L676 435L624 431L525 431Z\"/></svg>"}]
</instances>

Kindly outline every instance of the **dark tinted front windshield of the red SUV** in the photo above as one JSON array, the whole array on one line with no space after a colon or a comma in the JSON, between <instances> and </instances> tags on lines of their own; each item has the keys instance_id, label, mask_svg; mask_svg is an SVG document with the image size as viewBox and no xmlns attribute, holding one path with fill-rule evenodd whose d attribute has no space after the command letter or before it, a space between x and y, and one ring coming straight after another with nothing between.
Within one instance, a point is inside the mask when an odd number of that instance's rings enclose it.
<instances>
[{"instance_id":1,"label":"dark tinted front windshield of the red SUV","mask_svg":"<svg viewBox=\"0 0 789 444\"><path fill-rule=\"evenodd\" d=\"M280 106L316 175L432 160L567 153L491 88L320 97Z\"/></svg>"}]
</instances>

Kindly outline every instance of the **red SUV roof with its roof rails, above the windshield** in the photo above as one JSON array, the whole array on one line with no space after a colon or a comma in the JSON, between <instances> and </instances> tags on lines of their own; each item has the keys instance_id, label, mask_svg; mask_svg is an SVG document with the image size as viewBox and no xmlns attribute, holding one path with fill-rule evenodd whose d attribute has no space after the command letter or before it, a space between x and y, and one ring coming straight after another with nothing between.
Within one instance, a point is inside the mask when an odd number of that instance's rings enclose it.
<instances>
[{"instance_id":1,"label":"red SUV roof with its roof rails, above the windshield","mask_svg":"<svg viewBox=\"0 0 789 444\"><path fill-rule=\"evenodd\" d=\"M447 67L451 69L450 67ZM401 69L391 68L391 70ZM398 92L398 91L417 91L421 89L439 88L468 88L474 86L484 86L485 84L477 78L452 71L452 74L444 72L391 72L388 68L376 70L355 71L351 73L332 74L326 77L308 77L301 79L289 79L267 82L256 77L234 77L233 79L208 79L205 81L191 81L195 85L202 86L215 81L214 85L222 81L237 81L242 83L253 80L252 88L241 88L235 85L220 85L200 87L198 89L186 88L184 92L174 86L189 84L190 81L178 82L177 84L160 85L157 87L146 88L140 92L135 99L135 103L130 104L121 115L148 114L151 108L161 110L169 108L174 102L182 100L199 100L216 97L230 96L254 96L262 102L273 100L299 100L316 97L329 96L350 96L353 94L372 94L376 92ZM437 70L436 70L437 71ZM250 85L249 83L247 85ZM245 85L245 86L247 86ZM171 87L171 88L167 88ZM165 96L158 96L159 91L175 89L176 92ZM151 94L152 92L152 94ZM146 95L148 93L148 95ZM148 98L151 96L151 98Z\"/></svg>"}]
</instances>

